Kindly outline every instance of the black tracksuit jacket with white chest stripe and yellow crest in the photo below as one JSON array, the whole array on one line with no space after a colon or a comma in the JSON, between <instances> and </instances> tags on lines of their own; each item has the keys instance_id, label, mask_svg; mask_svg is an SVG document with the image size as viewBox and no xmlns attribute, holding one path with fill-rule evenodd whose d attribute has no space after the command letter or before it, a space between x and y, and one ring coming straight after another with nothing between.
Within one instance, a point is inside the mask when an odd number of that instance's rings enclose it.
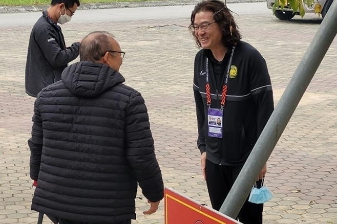
<instances>
[{"instance_id":1,"label":"black tracksuit jacket with white chest stripe and yellow crest","mask_svg":"<svg viewBox=\"0 0 337 224\"><path fill-rule=\"evenodd\" d=\"M223 137L208 137L206 104L206 58L209 59L210 107L220 108L223 77L231 48L219 66L210 50L200 50L195 58L194 96L198 121L198 148L207 151L207 160L221 165L245 163L273 111L271 81L266 62L250 44L240 41L234 53L223 109ZM215 72L217 70L218 72ZM221 72L220 72L221 70ZM217 94L218 93L218 94Z\"/></svg>"}]
</instances>

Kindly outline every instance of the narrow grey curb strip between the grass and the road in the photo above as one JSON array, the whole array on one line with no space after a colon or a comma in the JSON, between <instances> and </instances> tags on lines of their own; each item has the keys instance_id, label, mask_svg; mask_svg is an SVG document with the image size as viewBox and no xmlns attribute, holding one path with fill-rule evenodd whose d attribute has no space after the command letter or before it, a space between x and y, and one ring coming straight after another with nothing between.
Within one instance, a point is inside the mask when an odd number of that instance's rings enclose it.
<instances>
[{"instance_id":1,"label":"narrow grey curb strip between the grass and the road","mask_svg":"<svg viewBox=\"0 0 337 224\"><path fill-rule=\"evenodd\" d=\"M153 7L153 6L184 6L196 5L199 0L163 0L163 1L149 1L149 2L130 2L130 3L92 3L81 4L78 9L113 9L113 8L134 8L134 7ZM253 3L265 2L263 0L227 0L227 3ZM0 6L0 13L16 13L16 12L41 12L48 9L49 5L36 6Z\"/></svg>"}]
</instances>

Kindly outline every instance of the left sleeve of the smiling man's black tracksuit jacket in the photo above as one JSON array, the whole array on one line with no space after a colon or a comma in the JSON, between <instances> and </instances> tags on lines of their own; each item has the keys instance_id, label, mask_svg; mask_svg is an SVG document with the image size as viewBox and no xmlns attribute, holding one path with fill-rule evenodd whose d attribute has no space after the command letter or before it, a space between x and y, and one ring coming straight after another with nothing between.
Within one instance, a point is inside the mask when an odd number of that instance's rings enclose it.
<instances>
[{"instance_id":1,"label":"left sleeve of the smiling man's black tracksuit jacket","mask_svg":"<svg viewBox=\"0 0 337 224\"><path fill-rule=\"evenodd\" d=\"M200 150L200 153L206 151L206 142L205 142L205 109L202 96L199 92L199 83L198 83L198 73L197 73L197 57L194 62L194 79L193 79L193 90L194 90L194 100L196 103L196 113L197 113L197 124L198 124L198 139L197 145Z\"/></svg>"}]
</instances>

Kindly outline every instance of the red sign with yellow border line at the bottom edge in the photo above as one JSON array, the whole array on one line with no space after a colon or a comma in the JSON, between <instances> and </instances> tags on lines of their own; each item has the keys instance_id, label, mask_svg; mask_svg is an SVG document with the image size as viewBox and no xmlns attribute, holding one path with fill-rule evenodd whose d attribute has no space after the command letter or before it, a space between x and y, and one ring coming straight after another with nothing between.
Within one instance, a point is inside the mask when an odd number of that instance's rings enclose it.
<instances>
[{"instance_id":1,"label":"red sign with yellow border line at the bottom edge","mask_svg":"<svg viewBox=\"0 0 337 224\"><path fill-rule=\"evenodd\" d=\"M165 188L165 224L241 223L182 194Z\"/></svg>"}]
</instances>

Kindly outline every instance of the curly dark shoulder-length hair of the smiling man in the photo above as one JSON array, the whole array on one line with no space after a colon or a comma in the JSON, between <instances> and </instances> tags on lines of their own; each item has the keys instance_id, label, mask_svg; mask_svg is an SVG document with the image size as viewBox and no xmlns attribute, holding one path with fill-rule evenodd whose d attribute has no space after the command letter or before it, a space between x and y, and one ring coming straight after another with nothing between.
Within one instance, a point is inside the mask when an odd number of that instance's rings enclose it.
<instances>
[{"instance_id":1,"label":"curly dark shoulder-length hair of the smiling man","mask_svg":"<svg viewBox=\"0 0 337 224\"><path fill-rule=\"evenodd\" d=\"M240 41L241 34L238 30L239 28L234 21L231 11L222 1L205 0L198 3L192 11L190 27L194 25L196 14L201 11L213 12L213 17L222 30L222 43L225 47L235 46ZM196 40L197 46L201 48L201 43L196 37L195 32L191 31L191 33Z\"/></svg>"}]
</instances>

